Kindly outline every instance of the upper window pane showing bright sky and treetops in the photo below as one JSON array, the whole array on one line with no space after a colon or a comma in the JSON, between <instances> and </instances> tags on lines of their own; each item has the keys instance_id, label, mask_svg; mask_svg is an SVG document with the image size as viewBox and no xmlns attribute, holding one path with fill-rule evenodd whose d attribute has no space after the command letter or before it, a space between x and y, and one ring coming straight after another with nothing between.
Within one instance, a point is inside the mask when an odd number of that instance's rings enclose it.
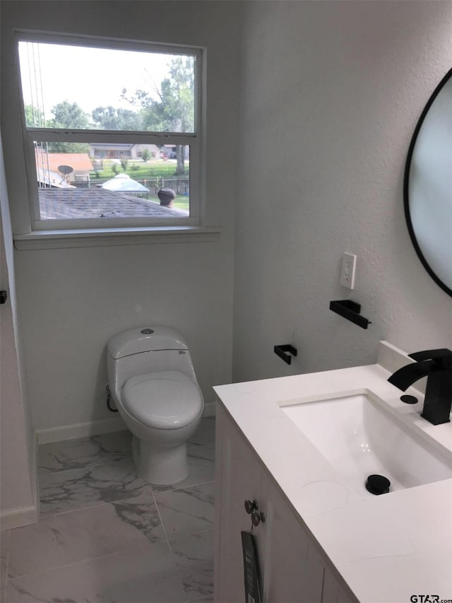
<instances>
[{"instance_id":1,"label":"upper window pane showing bright sky and treetops","mask_svg":"<svg viewBox=\"0 0 452 603\"><path fill-rule=\"evenodd\" d=\"M19 42L28 127L195 131L195 57Z\"/></svg>"}]
</instances>

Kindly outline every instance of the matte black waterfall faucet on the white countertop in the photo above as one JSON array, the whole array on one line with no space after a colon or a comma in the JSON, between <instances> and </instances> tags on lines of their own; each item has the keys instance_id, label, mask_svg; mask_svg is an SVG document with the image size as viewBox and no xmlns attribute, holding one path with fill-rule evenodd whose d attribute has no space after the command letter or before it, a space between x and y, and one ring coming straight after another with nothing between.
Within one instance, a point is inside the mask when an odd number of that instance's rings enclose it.
<instances>
[{"instance_id":1,"label":"matte black waterfall faucet on the white countertop","mask_svg":"<svg viewBox=\"0 0 452 603\"><path fill-rule=\"evenodd\" d=\"M433 425L448 423L452 406L452 351L424 350L408 356L416 362L396 370L388 381L405 392L415 381L427 376L421 416Z\"/></svg>"}]
</instances>

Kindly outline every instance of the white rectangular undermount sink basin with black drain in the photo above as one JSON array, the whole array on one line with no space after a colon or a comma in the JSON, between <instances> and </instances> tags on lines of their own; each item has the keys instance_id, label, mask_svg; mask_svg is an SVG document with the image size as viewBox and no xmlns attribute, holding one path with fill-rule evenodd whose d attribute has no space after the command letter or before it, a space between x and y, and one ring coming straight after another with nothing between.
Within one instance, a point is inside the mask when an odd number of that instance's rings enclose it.
<instances>
[{"instance_id":1,"label":"white rectangular undermount sink basin with black drain","mask_svg":"<svg viewBox=\"0 0 452 603\"><path fill-rule=\"evenodd\" d=\"M359 493L373 496L365 488L371 474L391 481L390 492L452 477L452 453L394 416L369 390L279 405Z\"/></svg>"}]
</instances>

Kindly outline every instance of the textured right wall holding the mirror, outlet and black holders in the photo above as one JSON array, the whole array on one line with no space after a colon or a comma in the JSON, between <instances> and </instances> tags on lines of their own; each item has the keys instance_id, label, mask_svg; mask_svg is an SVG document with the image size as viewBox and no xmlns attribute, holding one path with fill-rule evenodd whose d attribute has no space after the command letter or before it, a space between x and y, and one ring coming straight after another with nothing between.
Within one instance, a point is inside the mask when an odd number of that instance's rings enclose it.
<instances>
[{"instance_id":1,"label":"textured right wall holding the mirror, outlet and black holders","mask_svg":"<svg viewBox=\"0 0 452 603\"><path fill-rule=\"evenodd\" d=\"M377 342L451 347L451 298L403 216L412 132L452 65L452 3L246 2L234 380L374 363ZM339 285L343 252L357 283ZM328 310L361 303L363 330ZM294 343L289 367L273 345Z\"/></svg>"}]
</instances>

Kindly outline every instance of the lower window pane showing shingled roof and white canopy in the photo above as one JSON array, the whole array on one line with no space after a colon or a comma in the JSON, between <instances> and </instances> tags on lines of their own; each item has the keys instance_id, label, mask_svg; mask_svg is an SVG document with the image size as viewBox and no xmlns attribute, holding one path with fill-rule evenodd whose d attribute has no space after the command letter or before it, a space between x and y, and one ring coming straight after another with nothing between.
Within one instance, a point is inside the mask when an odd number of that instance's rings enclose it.
<instances>
[{"instance_id":1,"label":"lower window pane showing shingled roof and white canopy","mask_svg":"<svg viewBox=\"0 0 452 603\"><path fill-rule=\"evenodd\" d=\"M40 219L186 218L189 146L35 144Z\"/></svg>"}]
</instances>

